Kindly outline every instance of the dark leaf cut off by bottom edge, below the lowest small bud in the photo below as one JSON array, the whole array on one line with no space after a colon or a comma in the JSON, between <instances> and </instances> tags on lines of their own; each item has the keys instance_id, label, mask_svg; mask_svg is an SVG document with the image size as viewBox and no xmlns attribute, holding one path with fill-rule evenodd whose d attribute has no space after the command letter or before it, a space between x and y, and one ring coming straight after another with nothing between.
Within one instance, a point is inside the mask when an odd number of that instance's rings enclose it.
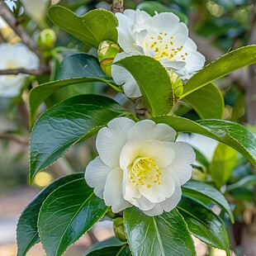
<instances>
[{"instance_id":1,"label":"dark leaf cut off by bottom edge, below the lowest small bud","mask_svg":"<svg viewBox=\"0 0 256 256\"><path fill-rule=\"evenodd\" d=\"M116 237L92 245L84 256L131 256L128 244Z\"/></svg>"}]
</instances>

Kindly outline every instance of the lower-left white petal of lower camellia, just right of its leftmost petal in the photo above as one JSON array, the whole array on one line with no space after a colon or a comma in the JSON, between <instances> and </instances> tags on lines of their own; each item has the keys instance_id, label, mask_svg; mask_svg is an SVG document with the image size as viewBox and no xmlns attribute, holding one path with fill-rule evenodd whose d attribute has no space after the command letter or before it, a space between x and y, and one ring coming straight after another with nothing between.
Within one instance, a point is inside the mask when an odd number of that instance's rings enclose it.
<instances>
[{"instance_id":1,"label":"lower-left white petal of lower camellia, just right of its leftmost petal","mask_svg":"<svg viewBox=\"0 0 256 256\"><path fill-rule=\"evenodd\" d=\"M103 199L107 206L111 206L113 212L119 212L130 207L130 202L126 201L122 194L123 171L115 168L107 176L107 182L103 192Z\"/></svg>"}]
</instances>

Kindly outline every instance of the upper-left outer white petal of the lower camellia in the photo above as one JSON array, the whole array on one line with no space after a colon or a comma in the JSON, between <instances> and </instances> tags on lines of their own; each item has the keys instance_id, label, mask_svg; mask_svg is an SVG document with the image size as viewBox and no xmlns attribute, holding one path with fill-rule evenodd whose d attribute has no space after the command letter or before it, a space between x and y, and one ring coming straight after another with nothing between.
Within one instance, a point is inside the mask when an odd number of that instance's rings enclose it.
<instances>
[{"instance_id":1,"label":"upper-left outer white petal of the lower camellia","mask_svg":"<svg viewBox=\"0 0 256 256\"><path fill-rule=\"evenodd\" d=\"M102 161L111 168L119 166L121 149L126 145L127 134L135 122L126 117L115 118L108 123L108 127L99 130L96 148Z\"/></svg>"}]
</instances>

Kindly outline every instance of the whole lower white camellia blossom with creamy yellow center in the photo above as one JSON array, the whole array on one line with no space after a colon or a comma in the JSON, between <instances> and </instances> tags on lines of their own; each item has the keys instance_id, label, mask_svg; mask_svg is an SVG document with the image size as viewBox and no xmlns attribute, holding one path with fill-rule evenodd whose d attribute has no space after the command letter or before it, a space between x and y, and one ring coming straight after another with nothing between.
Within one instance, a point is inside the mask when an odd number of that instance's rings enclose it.
<instances>
[{"instance_id":1,"label":"whole lower white camellia blossom with creamy yellow center","mask_svg":"<svg viewBox=\"0 0 256 256\"><path fill-rule=\"evenodd\" d=\"M119 117L99 130L99 156L88 164L86 182L113 212L137 206L148 216L171 211L192 175L196 155L174 142L176 132L154 121Z\"/></svg>"}]
</instances>

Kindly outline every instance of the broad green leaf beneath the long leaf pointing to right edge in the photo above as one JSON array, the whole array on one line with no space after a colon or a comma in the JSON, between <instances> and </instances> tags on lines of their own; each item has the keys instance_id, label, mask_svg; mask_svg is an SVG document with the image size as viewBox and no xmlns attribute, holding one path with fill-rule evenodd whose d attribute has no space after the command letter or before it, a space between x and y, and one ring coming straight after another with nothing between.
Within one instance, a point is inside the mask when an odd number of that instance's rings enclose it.
<instances>
[{"instance_id":1,"label":"broad green leaf beneath the long leaf pointing to right edge","mask_svg":"<svg viewBox=\"0 0 256 256\"><path fill-rule=\"evenodd\" d=\"M190 105L201 119L223 117L224 98L214 83L209 83L183 97L183 102Z\"/></svg>"}]
</instances>

